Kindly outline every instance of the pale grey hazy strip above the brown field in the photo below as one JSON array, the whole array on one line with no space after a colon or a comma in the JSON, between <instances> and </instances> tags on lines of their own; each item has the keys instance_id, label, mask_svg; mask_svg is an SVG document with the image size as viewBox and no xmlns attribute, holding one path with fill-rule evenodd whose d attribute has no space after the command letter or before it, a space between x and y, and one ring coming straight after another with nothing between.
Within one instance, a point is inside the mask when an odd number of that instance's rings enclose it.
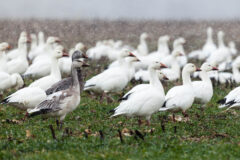
<instances>
[{"instance_id":1,"label":"pale grey hazy strip above the brown field","mask_svg":"<svg viewBox=\"0 0 240 160\"><path fill-rule=\"evenodd\" d=\"M239 0L1 0L1 18L235 19Z\"/></svg>"}]
</instances>

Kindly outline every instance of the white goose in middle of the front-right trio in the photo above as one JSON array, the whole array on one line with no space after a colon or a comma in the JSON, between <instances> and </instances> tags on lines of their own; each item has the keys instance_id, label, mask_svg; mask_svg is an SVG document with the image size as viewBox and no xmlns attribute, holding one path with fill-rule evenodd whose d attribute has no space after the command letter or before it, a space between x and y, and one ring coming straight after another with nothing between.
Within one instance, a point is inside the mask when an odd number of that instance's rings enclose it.
<instances>
[{"instance_id":1,"label":"white goose in middle of the front-right trio","mask_svg":"<svg viewBox=\"0 0 240 160\"><path fill-rule=\"evenodd\" d=\"M194 91L191 83L190 74L195 71L201 71L192 63L184 66L182 71L183 85L171 88L166 97L162 108L159 111L179 111L187 116L186 110L189 109L194 102Z\"/></svg>"}]
</instances>

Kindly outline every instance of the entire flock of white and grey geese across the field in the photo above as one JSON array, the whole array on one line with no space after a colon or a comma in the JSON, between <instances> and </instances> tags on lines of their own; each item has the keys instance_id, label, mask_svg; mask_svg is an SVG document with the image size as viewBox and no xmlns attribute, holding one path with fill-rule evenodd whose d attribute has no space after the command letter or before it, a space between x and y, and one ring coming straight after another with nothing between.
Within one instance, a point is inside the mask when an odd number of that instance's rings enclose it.
<instances>
[{"instance_id":1,"label":"entire flock of white and grey geese across the field","mask_svg":"<svg viewBox=\"0 0 240 160\"><path fill-rule=\"evenodd\" d=\"M211 80L221 84L240 83L240 56L235 43L231 41L226 46L224 32L219 31L216 46L212 36L209 27L206 43L189 54L185 53L186 41L182 37L173 41L170 51L168 35L159 37L157 50L149 53L147 33L141 34L136 49L120 40L103 40L88 50L83 43L77 43L68 54L58 37L50 36L45 41L43 32L38 36L22 32L16 49L10 50L7 42L0 43L0 94L11 88L17 90L1 104L26 111L25 118L43 115L63 122L79 105L81 92L94 92L111 99L111 93L121 93L131 80L136 80L144 83L134 86L119 99L120 104L110 111L111 117L145 117L149 125L156 112L174 115L182 111L188 116L186 111L194 102L205 107L211 100ZM110 62L107 69L84 82L82 70L89 66L87 61L101 61L103 57ZM201 67L189 63L191 60L202 62ZM62 79L63 75L67 78ZM200 80L192 81L192 76ZM24 79L28 78L34 81L26 87ZM162 80L182 80L182 85L172 87L165 94ZM218 103L219 108L239 107L240 87Z\"/></svg>"}]
</instances>

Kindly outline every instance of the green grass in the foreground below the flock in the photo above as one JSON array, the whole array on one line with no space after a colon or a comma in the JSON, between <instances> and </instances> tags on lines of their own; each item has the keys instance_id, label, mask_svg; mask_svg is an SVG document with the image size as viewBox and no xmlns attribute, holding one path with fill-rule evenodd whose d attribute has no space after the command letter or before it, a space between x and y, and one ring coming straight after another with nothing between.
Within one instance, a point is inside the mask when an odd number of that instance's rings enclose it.
<instances>
[{"instance_id":1,"label":"green grass in the foreground below the flock","mask_svg":"<svg viewBox=\"0 0 240 160\"><path fill-rule=\"evenodd\" d=\"M150 127L139 126L135 118L109 119L108 111L118 103L100 103L98 97L90 98L87 93L66 117L62 130L57 129L55 119L39 116L23 122L23 112L1 106L0 159L238 159L239 111L223 112L216 104L229 90L215 88L204 111L197 104L188 110L187 122L174 123L168 113L156 113ZM57 139L52 138L50 124ZM66 128L69 134L63 134ZM118 130L123 129L128 133L121 142ZM135 130L145 135L144 140Z\"/></svg>"}]
</instances>

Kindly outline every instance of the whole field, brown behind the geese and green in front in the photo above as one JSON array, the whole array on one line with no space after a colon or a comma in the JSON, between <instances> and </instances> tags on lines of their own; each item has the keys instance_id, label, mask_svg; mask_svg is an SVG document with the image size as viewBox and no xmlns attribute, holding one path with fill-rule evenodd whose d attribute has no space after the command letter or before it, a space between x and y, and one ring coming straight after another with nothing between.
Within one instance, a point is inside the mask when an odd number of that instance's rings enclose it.
<instances>
[{"instance_id":1,"label":"whole field, brown behind the geese and green in front","mask_svg":"<svg viewBox=\"0 0 240 160\"><path fill-rule=\"evenodd\" d=\"M109 38L136 47L140 33L145 31L151 36L150 50L156 49L160 35L169 34L173 39L186 38L185 49L189 52L204 44L209 25L215 33L225 31L226 42L234 40L238 47L240 21L0 20L0 41L16 46L22 30L42 30L47 35L59 36L66 48L79 41L91 47L97 40ZM86 79L102 70L107 62L96 64L91 62L86 69ZM165 83L165 92L173 85ZM189 119L178 117L179 121L173 122L170 114L156 113L150 126L139 126L135 118L110 119L109 111L118 105L117 94L111 95L116 101L109 103L83 93L81 104L66 117L62 129L55 119L34 117L23 121L23 112L1 105L0 159L239 159L240 112L220 110L216 103L230 90L224 85L216 86L207 108L201 110L200 105L194 104L188 110Z\"/></svg>"}]
</instances>

